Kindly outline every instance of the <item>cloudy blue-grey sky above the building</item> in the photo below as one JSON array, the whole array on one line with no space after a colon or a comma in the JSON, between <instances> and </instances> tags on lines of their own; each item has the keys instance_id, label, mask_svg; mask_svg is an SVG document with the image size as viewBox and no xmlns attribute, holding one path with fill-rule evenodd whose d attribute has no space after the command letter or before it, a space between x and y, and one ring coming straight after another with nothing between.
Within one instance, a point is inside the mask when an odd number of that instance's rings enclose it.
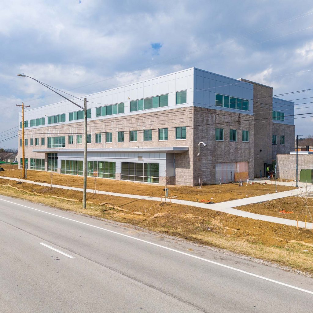
<instances>
[{"instance_id":1,"label":"cloudy blue-grey sky above the building","mask_svg":"<svg viewBox=\"0 0 313 313\"><path fill-rule=\"evenodd\" d=\"M0 147L18 146L16 104L62 100L17 73L83 96L190 67L313 88L312 1L1 1ZM312 112L295 132L313 134L313 90L278 97Z\"/></svg>"}]
</instances>

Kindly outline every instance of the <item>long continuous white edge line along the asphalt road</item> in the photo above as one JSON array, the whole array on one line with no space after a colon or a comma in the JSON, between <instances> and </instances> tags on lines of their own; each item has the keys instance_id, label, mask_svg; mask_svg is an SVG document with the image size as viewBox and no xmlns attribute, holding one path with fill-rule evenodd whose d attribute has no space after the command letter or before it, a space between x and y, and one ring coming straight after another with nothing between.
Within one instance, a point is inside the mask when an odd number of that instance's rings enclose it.
<instances>
[{"instance_id":1,"label":"long continuous white edge line along the asphalt road","mask_svg":"<svg viewBox=\"0 0 313 313\"><path fill-rule=\"evenodd\" d=\"M282 282L280 282L278 280L273 280L273 279L270 279L270 278L267 278L267 277L264 277L264 276L253 274L253 273L244 271L242 269L236 269L235 267L232 267L232 266L228 266L228 265L221 264L221 263L218 263L218 262L215 262L215 261L204 259L204 258L201 258L201 257L196 256L196 255L192 255L192 254L189 254L189 253L186 253L186 252L182 252L182 251L179 251L179 250L176 250L176 249L172 249L172 248L168 248L168 247L162 246L160 244L155 244L155 243L150 242L150 241L146 241L146 240L139 239L139 238L136 238L136 237L132 237L132 236L129 236L129 235L125 235L125 234L122 234L122 233L118 233L118 232L115 232L113 230L105 229L105 228L102 228L102 227L99 227L99 226L95 226L95 225L91 225L91 224L88 224L88 223L80 222L80 221L77 221L75 219L67 218L67 217L64 217L64 216L61 216L61 215L57 215L57 214L54 214L54 213L49 213L49 212L42 211L42 210L39 210L39 209L31 208L31 207L28 207L28 206L23 205L23 204L15 203L15 202L4 200L4 199L1 199L1 198L0 198L0 200L8 202L8 203L13 203L13 204L19 205L21 207L32 209L32 210L35 210L35 211L38 211L38 212L42 212L42 213L46 213L46 214L49 214L49 215L57 216L59 218L64 218L64 219L67 219L67 220L75 222L75 223L80 223L80 224L87 225L87 226L90 226L90 227L102 229L102 230L105 230L106 232L109 232L109 233L114 233L114 234L117 234L117 235L120 235L120 236L123 236L123 237L127 237L127 238L131 238L131 239L134 239L134 240L138 240L138 241L144 242L146 244L151 244L153 246L156 246L156 247L159 247L159 248L162 248L162 249L166 249L166 250L170 250L170 251L173 251L173 252L176 252L176 253L179 253L179 254L187 255L187 256L190 256L190 257L192 257L194 259L198 259L198 260L202 260L202 261L205 261L205 262L208 262L208 263L212 263L212 264L215 264L215 265L218 265L218 266L222 266L222 267L225 267L227 269L232 269L232 270L237 271L239 273L244 273L244 274L247 274L247 275L250 275L250 276L254 276L254 277L257 277L257 278L260 278L260 279L264 279L264 280L270 281L270 282L275 283L275 284L283 285L283 286L286 286L286 287L289 287L289 288L293 288L293 289L296 289L296 290L300 290L300 291L303 291L303 292L307 292L307 293L313 295L313 291L302 289L302 288L299 288L299 287L296 287L296 286L293 286L293 285L288 285L288 284L282 283Z\"/></svg>"}]
</instances>

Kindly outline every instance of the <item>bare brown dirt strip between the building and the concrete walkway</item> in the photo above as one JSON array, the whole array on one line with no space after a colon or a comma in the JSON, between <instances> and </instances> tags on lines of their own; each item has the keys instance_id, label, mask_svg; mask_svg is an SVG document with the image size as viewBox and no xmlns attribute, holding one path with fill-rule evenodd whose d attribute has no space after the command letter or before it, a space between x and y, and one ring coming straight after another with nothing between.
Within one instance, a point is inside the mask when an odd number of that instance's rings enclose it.
<instances>
[{"instance_id":1,"label":"bare brown dirt strip between the building and the concrete walkway","mask_svg":"<svg viewBox=\"0 0 313 313\"><path fill-rule=\"evenodd\" d=\"M0 172L0 176L6 177L21 177L21 170L16 170L15 165L4 166L5 171ZM27 179L35 182L51 182L51 172L41 171L27 171ZM52 183L62 186L71 187L83 187L83 177L77 177L74 175L65 174L52 174ZM95 178L87 178L87 188L93 189L95 184ZM126 194L137 194L143 196L160 197L163 192L162 186L155 186L151 184L143 184L137 182L125 182L116 181L105 178L97 178L96 186L98 190L119 192ZM253 184L246 186L244 183L243 187L239 187L237 184L223 184L223 185L208 185L199 187L191 186L168 186L169 194L177 199L189 200L189 201L212 201L214 203L260 196L267 193L274 193L275 186L269 184ZM277 191L285 191L295 189L290 186L277 186ZM163 192L164 195L164 192Z\"/></svg>"}]
</instances>

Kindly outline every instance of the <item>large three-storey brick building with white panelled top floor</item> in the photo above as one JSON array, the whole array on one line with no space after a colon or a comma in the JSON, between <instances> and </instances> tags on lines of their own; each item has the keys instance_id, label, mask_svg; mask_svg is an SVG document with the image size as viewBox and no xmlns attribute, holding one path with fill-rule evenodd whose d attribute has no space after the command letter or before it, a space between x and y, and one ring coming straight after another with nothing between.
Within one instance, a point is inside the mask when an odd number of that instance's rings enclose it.
<instances>
[{"instance_id":1,"label":"large three-storey brick building with white panelled top floor","mask_svg":"<svg viewBox=\"0 0 313 313\"><path fill-rule=\"evenodd\" d=\"M277 153L294 149L294 103L249 80L190 68L86 98L89 176L229 182L264 175ZM84 113L77 109L62 101L25 110L28 169L82 175ZM21 156L21 131L19 146Z\"/></svg>"}]
</instances>

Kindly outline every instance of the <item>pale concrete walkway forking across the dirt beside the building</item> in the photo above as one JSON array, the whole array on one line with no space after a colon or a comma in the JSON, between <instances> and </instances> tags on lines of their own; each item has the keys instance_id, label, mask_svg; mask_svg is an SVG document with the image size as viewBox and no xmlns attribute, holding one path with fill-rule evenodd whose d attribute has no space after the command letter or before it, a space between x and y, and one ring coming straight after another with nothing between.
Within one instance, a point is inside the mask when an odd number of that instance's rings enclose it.
<instances>
[{"instance_id":1,"label":"pale concrete walkway forking across the dirt beside the building","mask_svg":"<svg viewBox=\"0 0 313 313\"><path fill-rule=\"evenodd\" d=\"M12 181L19 181L19 178L13 178L13 177L0 176L0 178L9 179ZM26 179L24 179L23 182L34 184L34 185L39 185L39 186L50 187L50 184L44 183L44 182L33 182L31 180L26 180ZM52 187L83 191L83 188L61 186L61 185L54 185L54 184L52 185ZM198 207L198 208L205 208L205 209L223 212L223 213L228 213L228 214L232 214L232 215L236 215L236 216L242 216L245 218L252 218L255 220L284 224L284 225L289 225L289 226L297 226L297 221L294 221L294 220L241 211L241 210L237 210L237 209L232 208L232 206L247 205L250 203L258 203L258 202L264 202L264 201L269 201L269 200L278 199L278 198L285 198L285 197L289 197L291 194L292 195L295 195L297 193L299 194L301 192L301 189L303 189L303 188L289 190L289 191L283 191L283 192L277 192L277 193L272 193L272 194L262 195L262 196L257 196L257 197L250 197L250 198L238 199L238 200L233 200L233 201L226 201L226 202L215 203L215 204L198 203L198 202L194 202L194 201L179 200L179 199L172 199L172 203L183 204L183 205L188 205L188 206ZM87 189L87 192L92 193L93 191L92 191L92 189ZM101 191L101 190L99 190L99 194L110 195L110 196L115 196L115 197L123 197L123 198L132 198L132 199L141 199L141 200L150 200L150 201L161 202L161 198L158 198L158 197L130 195L130 194L125 194L125 193L108 192L108 191ZM257 200L255 200L255 198L257 198ZM305 223L299 222L299 227L304 228ZM312 229L313 224L312 223L306 223L306 227L309 229Z\"/></svg>"}]
</instances>

